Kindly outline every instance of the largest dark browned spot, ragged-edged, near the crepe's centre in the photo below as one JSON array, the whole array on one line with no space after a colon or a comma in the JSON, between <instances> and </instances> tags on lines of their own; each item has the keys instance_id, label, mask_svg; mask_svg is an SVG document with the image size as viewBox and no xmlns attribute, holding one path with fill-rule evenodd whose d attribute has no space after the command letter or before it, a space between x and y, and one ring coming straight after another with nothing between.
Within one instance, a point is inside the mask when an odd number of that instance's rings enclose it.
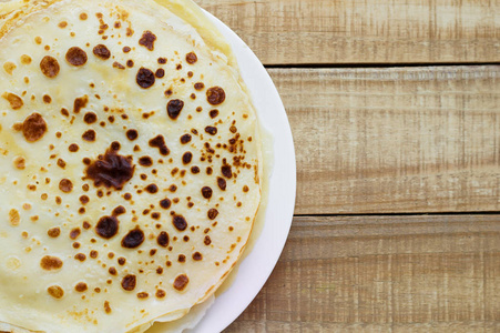
<instances>
[{"instance_id":1,"label":"largest dark browned spot, ragged-edged, near the crepe's centre","mask_svg":"<svg viewBox=\"0 0 500 333\"><path fill-rule=\"evenodd\" d=\"M135 165L131 158L116 154L113 149L108 149L104 157L100 155L86 170L86 179L92 179L95 186L104 185L121 190L132 179Z\"/></svg>"}]
</instances>

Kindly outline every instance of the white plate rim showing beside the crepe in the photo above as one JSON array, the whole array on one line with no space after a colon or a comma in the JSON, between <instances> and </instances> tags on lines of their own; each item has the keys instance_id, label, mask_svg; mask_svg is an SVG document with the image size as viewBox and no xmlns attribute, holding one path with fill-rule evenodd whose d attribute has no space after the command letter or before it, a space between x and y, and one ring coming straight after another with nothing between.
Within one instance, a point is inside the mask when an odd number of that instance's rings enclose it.
<instances>
[{"instance_id":1,"label":"white plate rim showing beside the crepe","mask_svg":"<svg viewBox=\"0 0 500 333\"><path fill-rule=\"evenodd\" d=\"M285 108L267 71L257 57L227 26L205 11L229 42L241 73L252 93L261 125L272 134L273 155L267 209L258 239L237 270L229 286L217 294L202 321L190 332L221 332L248 306L269 278L285 245L295 206L295 151ZM258 229L258 226L256 228Z\"/></svg>"}]
</instances>

